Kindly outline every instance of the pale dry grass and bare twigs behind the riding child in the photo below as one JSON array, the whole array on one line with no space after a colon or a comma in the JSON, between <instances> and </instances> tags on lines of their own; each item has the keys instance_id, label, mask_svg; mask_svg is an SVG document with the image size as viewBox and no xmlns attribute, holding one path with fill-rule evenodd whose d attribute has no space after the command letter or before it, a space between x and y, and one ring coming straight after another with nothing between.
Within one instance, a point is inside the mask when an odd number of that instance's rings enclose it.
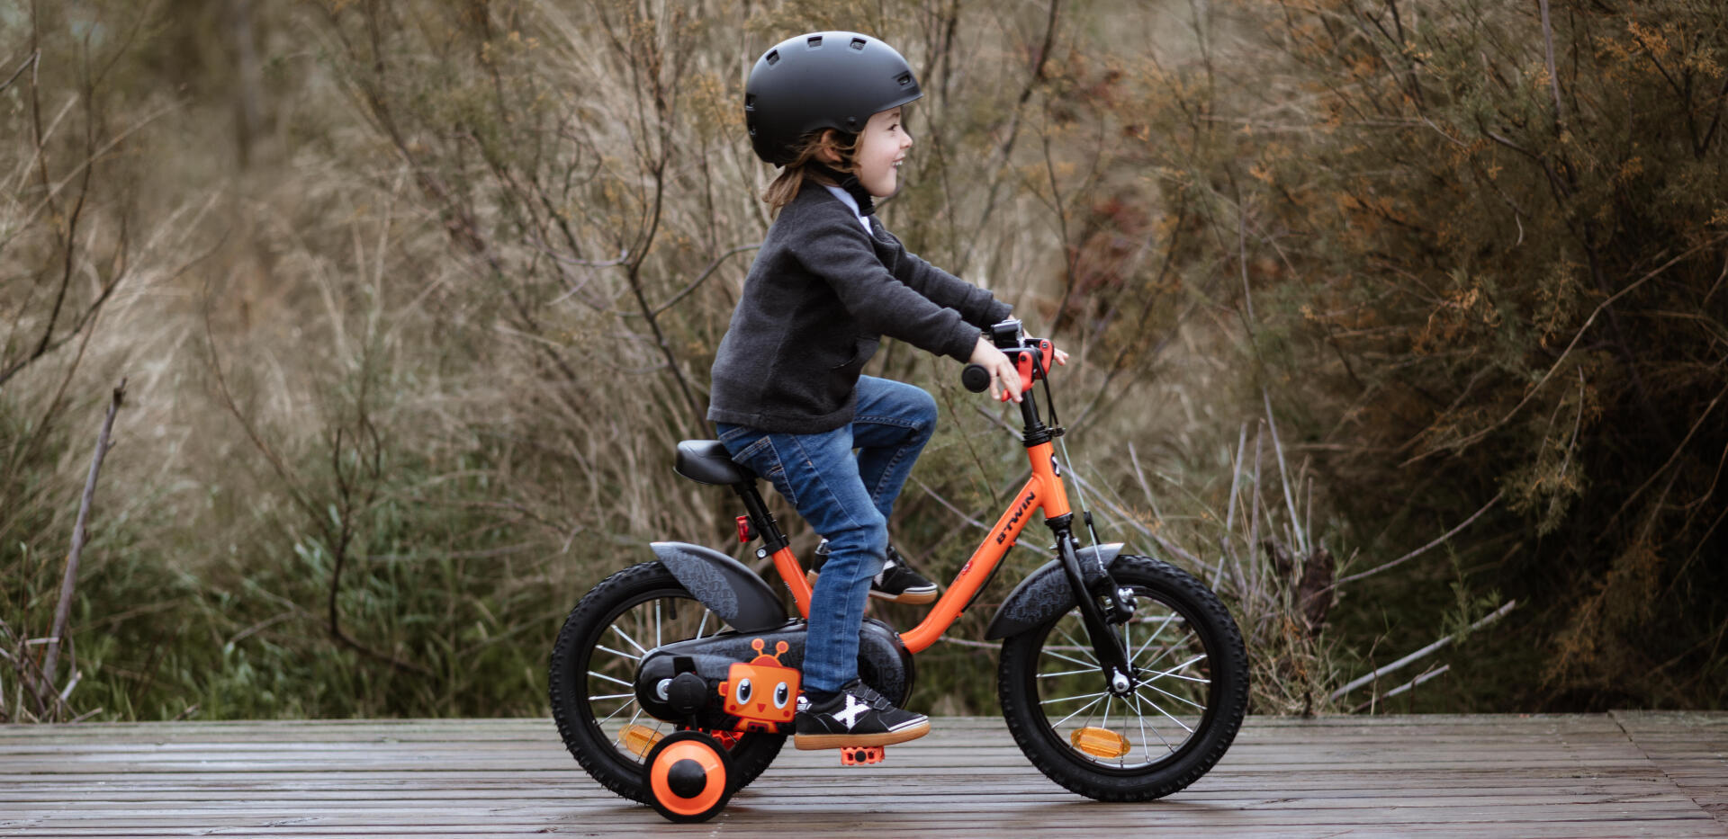
<instances>
[{"instance_id":1,"label":"pale dry grass and bare twigs behind the riding child","mask_svg":"<svg viewBox=\"0 0 1728 839\"><path fill-rule=\"evenodd\" d=\"M1239 287L1277 276L1275 242L1217 178L1244 140L1199 116L1232 35L1189 3L1118 5L259 9L273 64L252 93L271 112L247 167L225 150L226 104L126 98L162 60L149 28L104 41L92 60L119 69L79 90L76 16L50 12L29 93L126 142L67 245L29 186L48 143L7 133L5 255L35 278L86 254L83 307L116 276L104 264L124 281L0 385L0 653L28 670L85 440L130 376L62 666L83 680L55 715L543 713L551 634L588 585L651 539L726 539L724 494L669 461L710 433L712 352L769 223L771 171L734 104L785 33L854 28L899 45L926 90L885 223L1073 350L1064 420L1101 525L1225 594L1256 710L1331 708L1356 665L1324 606L1350 530L1255 383L1265 349ZM76 169L55 166L55 183ZM5 271L0 363L47 318ZM878 364L945 406L895 528L952 573L969 546L949 508L997 506L1020 451L950 364L892 345ZM931 654L968 666L926 680L928 704L990 706L980 653ZM43 716L9 678L5 718Z\"/></svg>"}]
</instances>

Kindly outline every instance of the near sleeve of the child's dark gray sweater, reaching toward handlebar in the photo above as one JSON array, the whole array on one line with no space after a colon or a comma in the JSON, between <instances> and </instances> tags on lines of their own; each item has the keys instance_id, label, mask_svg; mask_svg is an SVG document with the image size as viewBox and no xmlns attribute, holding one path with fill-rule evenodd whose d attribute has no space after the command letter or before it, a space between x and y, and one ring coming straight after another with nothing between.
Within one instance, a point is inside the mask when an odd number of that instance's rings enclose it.
<instances>
[{"instance_id":1,"label":"near sleeve of the child's dark gray sweater, reaching toward handlebar","mask_svg":"<svg viewBox=\"0 0 1728 839\"><path fill-rule=\"evenodd\" d=\"M938 356L971 359L978 326L888 273L855 219L812 218L802 233L798 262L828 281L864 328Z\"/></svg>"}]
</instances>

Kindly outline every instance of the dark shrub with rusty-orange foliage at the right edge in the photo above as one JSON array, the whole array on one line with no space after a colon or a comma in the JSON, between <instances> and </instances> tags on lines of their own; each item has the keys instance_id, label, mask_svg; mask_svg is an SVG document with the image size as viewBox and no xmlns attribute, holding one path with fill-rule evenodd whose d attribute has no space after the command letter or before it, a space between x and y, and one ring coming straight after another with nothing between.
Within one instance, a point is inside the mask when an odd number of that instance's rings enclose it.
<instances>
[{"instance_id":1,"label":"dark shrub with rusty-orange foliage at the right edge","mask_svg":"<svg viewBox=\"0 0 1728 839\"><path fill-rule=\"evenodd\" d=\"M1227 171L1322 485L1405 528L1503 499L1467 565L1540 602L1540 640L1500 644L1541 661L1514 704L1719 704L1721 9L1244 12L1275 83L1230 114L1255 142Z\"/></svg>"}]
</instances>

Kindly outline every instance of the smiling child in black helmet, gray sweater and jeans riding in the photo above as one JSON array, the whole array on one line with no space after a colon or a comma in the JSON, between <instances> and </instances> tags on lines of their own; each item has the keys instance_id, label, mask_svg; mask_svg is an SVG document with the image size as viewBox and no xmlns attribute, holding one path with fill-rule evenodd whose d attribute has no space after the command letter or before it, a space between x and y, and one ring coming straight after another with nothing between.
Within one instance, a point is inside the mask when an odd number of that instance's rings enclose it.
<instances>
[{"instance_id":1,"label":"smiling child in black helmet, gray sweater and jeans riding","mask_svg":"<svg viewBox=\"0 0 1728 839\"><path fill-rule=\"evenodd\" d=\"M873 214L873 199L899 186L912 147L902 107L921 95L899 52L857 33L781 41L745 85L755 154L785 171L764 195L776 219L714 359L708 420L733 459L828 539L810 597L800 749L930 732L928 718L857 677L873 584L878 596L921 602L937 590L904 563L886 565L888 514L937 404L918 387L859 373L881 335L980 364L992 394L1020 401L1014 364L982 333L1009 306L907 254Z\"/></svg>"}]
</instances>

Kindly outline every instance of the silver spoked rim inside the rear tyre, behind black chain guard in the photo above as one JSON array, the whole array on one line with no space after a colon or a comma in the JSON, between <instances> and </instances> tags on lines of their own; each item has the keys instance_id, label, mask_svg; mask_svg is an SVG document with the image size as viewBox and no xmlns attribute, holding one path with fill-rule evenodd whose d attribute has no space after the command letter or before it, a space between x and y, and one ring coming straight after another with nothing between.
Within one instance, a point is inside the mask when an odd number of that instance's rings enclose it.
<instances>
[{"instance_id":1,"label":"silver spoked rim inside the rear tyre, behind black chain guard","mask_svg":"<svg viewBox=\"0 0 1728 839\"><path fill-rule=\"evenodd\" d=\"M631 727L645 729L655 739L677 730L650 716L636 701L634 678L641 659L664 644L705 639L721 628L721 618L688 596L651 597L612 618L601 640L588 651L588 670L577 680L577 691L582 691L594 725L620 758L641 763L624 739Z\"/></svg>"}]
</instances>

